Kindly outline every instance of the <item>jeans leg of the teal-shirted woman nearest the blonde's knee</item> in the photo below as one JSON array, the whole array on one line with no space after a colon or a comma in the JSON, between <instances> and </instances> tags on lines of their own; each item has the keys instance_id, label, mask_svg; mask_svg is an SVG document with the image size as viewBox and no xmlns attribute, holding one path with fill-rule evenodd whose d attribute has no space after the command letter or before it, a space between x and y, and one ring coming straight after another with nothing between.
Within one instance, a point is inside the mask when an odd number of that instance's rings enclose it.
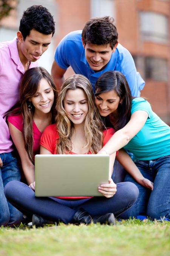
<instances>
[{"instance_id":1,"label":"jeans leg of the teal-shirted woman nearest the blonde's knee","mask_svg":"<svg viewBox=\"0 0 170 256\"><path fill-rule=\"evenodd\" d=\"M148 168L148 161L134 161L141 171L142 175L153 182L154 174ZM140 185L130 174L126 174L125 181L133 182L139 189L139 196L133 206L126 210L119 217L122 219L128 219L129 217L136 217L138 215L146 215L147 214L147 204L150 197L151 190Z\"/></svg>"}]
</instances>

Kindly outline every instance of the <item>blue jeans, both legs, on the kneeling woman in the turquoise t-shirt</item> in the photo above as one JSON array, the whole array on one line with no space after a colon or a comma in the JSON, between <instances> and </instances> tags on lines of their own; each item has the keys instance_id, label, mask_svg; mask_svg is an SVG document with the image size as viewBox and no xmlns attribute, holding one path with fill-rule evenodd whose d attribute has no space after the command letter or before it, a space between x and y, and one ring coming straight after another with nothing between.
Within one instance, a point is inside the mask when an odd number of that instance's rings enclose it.
<instances>
[{"instance_id":1,"label":"blue jeans, both legs, on the kneeling woman in the turquoise t-shirt","mask_svg":"<svg viewBox=\"0 0 170 256\"><path fill-rule=\"evenodd\" d=\"M153 190L138 184L133 177L127 174L125 181L136 184L139 188L139 197L131 209L128 209L120 217L147 215L153 220L164 216L170 218L170 155L155 160L136 160L134 163L143 176L154 183Z\"/></svg>"}]
</instances>

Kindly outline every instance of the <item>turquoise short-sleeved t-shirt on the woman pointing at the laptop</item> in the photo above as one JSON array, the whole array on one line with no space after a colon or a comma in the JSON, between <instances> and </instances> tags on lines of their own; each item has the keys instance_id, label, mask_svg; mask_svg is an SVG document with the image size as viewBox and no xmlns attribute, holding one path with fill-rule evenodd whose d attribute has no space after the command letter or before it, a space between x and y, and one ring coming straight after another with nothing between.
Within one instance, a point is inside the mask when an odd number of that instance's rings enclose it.
<instances>
[{"instance_id":1,"label":"turquoise short-sleeved t-shirt on the woman pointing at the laptop","mask_svg":"<svg viewBox=\"0 0 170 256\"><path fill-rule=\"evenodd\" d=\"M153 160L170 155L170 127L152 111L149 102L141 97L132 100L131 114L138 110L148 113L147 121L124 148L133 153L133 160Z\"/></svg>"}]
</instances>

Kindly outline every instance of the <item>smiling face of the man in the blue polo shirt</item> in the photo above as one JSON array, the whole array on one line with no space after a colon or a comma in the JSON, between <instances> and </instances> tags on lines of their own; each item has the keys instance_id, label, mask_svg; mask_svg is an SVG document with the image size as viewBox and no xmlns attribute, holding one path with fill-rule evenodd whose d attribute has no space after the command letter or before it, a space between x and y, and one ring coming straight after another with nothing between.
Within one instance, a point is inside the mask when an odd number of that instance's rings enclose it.
<instances>
[{"instance_id":1,"label":"smiling face of the man in the blue polo shirt","mask_svg":"<svg viewBox=\"0 0 170 256\"><path fill-rule=\"evenodd\" d=\"M111 49L110 44L83 44L85 57L91 69L98 72L105 68L110 61L111 54L116 50L116 46Z\"/></svg>"}]
</instances>

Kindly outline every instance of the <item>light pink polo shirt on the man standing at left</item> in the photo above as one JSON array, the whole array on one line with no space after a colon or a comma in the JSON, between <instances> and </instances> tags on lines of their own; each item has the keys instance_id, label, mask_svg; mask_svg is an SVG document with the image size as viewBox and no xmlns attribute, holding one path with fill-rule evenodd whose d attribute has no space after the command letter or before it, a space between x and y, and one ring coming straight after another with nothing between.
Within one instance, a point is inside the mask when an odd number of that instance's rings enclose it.
<instances>
[{"instance_id":1,"label":"light pink polo shirt on the man standing at left","mask_svg":"<svg viewBox=\"0 0 170 256\"><path fill-rule=\"evenodd\" d=\"M29 68L37 66L37 61L31 62ZM0 42L0 154L13 150L4 115L19 102L19 82L22 74L24 67L20 62L16 38Z\"/></svg>"}]
</instances>

